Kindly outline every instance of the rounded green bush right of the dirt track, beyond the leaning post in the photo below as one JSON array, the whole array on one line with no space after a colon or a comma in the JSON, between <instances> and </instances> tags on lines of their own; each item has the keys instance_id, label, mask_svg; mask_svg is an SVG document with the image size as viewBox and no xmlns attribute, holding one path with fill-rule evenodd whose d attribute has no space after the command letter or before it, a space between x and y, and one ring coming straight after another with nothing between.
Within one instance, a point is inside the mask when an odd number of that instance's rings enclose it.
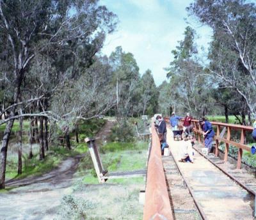
<instances>
[{"instance_id":1,"label":"rounded green bush right of the dirt track, beyond the leaning post","mask_svg":"<svg viewBox=\"0 0 256 220\"><path fill-rule=\"evenodd\" d=\"M127 120L117 123L112 129L111 141L132 142L134 141L134 128Z\"/></svg>"}]
</instances>

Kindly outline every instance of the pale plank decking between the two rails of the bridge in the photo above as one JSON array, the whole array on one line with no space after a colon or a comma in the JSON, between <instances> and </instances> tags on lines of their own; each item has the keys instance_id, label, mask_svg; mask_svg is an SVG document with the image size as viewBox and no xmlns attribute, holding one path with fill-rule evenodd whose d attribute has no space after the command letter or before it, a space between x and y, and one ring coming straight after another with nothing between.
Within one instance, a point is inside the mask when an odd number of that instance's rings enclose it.
<instances>
[{"instance_id":1,"label":"pale plank decking between the two rails of the bridge","mask_svg":"<svg viewBox=\"0 0 256 220\"><path fill-rule=\"evenodd\" d=\"M183 141L173 141L168 129L167 142L178 161ZM207 219L253 219L250 194L199 153L195 152L194 158L194 164L179 162L179 167Z\"/></svg>"}]
</instances>

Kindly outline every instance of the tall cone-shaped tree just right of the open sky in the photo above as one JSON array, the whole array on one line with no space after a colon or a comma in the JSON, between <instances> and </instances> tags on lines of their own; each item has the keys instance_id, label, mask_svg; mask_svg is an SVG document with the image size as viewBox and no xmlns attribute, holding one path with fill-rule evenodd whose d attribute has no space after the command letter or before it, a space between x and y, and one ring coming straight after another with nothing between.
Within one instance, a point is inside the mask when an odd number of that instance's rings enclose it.
<instances>
[{"instance_id":1,"label":"tall cone-shaped tree just right of the open sky","mask_svg":"<svg viewBox=\"0 0 256 220\"><path fill-rule=\"evenodd\" d=\"M166 70L172 88L173 111L182 109L179 111L189 111L199 116L205 115L207 111L209 81L204 77L204 67L196 57L195 35L194 29L186 27L184 40L180 40L179 45L172 51L174 59Z\"/></svg>"}]
</instances>

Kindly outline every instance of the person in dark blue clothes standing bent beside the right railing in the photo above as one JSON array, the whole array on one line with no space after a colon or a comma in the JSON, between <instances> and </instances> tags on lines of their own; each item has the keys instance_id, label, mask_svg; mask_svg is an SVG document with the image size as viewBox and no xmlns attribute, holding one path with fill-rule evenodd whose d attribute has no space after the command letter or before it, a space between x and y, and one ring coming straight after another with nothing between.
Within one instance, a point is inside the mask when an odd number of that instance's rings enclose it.
<instances>
[{"instance_id":1,"label":"person in dark blue clothes standing bent beside the right railing","mask_svg":"<svg viewBox=\"0 0 256 220\"><path fill-rule=\"evenodd\" d=\"M199 120L199 123L202 125L202 129L204 130L204 146L205 148L208 148L208 153L210 153L212 149L212 140L215 132L212 129L212 124L205 120L205 118L201 118Z\"/></svg>"}]
</instances>

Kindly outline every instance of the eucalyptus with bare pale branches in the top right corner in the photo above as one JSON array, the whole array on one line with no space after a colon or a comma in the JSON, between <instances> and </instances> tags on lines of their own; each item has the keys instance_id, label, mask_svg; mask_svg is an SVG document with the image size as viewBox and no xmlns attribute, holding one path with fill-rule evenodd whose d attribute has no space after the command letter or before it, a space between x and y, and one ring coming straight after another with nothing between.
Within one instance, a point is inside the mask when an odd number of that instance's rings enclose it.
<instances>
[{"instance_id":1,"label":"eucalyptus with bare pale branches in the top right corner","mask_svg":"<svg viewBox=\"0 0 256 220\"><path fill-rule=\"evenodd\" d=\"M256 117L256 5L243 0L192 3L188 10L213 30L209 74L241 97Z\"/></svg>"}]
</instances>

